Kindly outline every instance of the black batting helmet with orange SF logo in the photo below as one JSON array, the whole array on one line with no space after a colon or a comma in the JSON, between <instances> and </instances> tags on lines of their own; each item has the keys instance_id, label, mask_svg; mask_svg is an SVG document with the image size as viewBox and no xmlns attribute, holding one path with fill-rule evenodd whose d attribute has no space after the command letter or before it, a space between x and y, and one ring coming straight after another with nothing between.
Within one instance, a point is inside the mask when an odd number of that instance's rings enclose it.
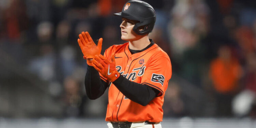
<instances>
[{"instance_id":1,"label":"black batting helmet with orange SF logo","mask_svg":"<svg viewBox=\"0 0 256 128\"><path fill-rule=\"evenodd\" d=\"M156 22L156 13L153 7L140 0L126 2L122 12L115 13L114 15L139 21L139 23L135 24L133 27L133 31L138 35L152 32ZM138 28L141 26L145 27L140 31Z\"/></svg>"}]
</instances>

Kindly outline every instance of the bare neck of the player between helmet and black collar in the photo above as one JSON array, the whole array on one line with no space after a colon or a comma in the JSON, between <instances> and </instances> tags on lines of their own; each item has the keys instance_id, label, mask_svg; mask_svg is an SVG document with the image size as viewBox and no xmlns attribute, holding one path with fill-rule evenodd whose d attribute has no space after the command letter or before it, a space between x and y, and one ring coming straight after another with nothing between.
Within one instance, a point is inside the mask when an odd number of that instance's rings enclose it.
<instances>
[{"instance_id":1,"label":"bare neck of the player between helmet and black collar","mask_svg":"<svg viewBox=\"0 0 256 128\"><path fill-rule=\"evenodd\" d=\"M140 38L139 40L129 41L129 48L132 50L141 50L150 44L148 35Z\"/></svg>"}]
</instances>

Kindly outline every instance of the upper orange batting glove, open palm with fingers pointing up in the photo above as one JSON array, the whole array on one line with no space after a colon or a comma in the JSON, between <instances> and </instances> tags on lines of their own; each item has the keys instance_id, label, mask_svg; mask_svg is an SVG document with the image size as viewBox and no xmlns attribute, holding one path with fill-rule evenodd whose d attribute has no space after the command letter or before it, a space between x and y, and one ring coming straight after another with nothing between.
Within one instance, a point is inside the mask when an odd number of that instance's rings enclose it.
<instances>
[{"instance_id":1,"label":"upper orange batting glove, open palm with fingers pointing up","mask_svg":"<svg viewBox=\"0 0 256 128\"><path fill-rule=\"evenodd\" d=\"M101 45L102 45L102 38L98 41L98 46L94 43L93 39L91 39L91 36L89 32L82 32L79 34L79 38L77 39L77 42L82 50L82 53L84 54L84 59L87 60L87 64L92 66L92 60L95 55L99 55L101 52Z\"/></svg>"}]
</instances>

